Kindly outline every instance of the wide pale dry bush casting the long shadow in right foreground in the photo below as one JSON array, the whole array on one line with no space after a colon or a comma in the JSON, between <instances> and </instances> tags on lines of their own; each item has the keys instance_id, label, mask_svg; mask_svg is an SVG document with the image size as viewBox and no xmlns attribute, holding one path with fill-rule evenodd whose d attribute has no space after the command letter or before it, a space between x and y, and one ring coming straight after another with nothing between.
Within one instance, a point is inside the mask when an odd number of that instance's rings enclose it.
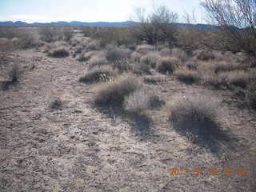
<instances>
[{"instance_id":1,"label":"wide pale dry bush casting the long shadow in right foreground","mask_svg":"<svg viewBox=\"0 0 256 192\"><path fill-rule=\"evenodd\" d=\"M210 94L179 94L170 111L173 122L214 122L220 113L220 100Z\"/></svg>"}]
</instances>

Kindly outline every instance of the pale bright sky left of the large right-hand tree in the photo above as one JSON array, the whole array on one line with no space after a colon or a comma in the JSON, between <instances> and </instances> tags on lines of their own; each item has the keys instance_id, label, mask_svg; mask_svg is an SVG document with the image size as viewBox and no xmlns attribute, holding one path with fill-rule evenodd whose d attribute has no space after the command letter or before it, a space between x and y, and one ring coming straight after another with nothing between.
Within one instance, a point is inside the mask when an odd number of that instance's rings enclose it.
<instances>
[{"instance_id":1,"label":"pale bright sky left of the large right-hand tree","mask_svg":"<svg viewBox=\"0 0 256 192\"><path fill-rule=\"evenodd\" d=\"M150 10L152 5L168 6L179 15L194 10L197 22L203 22L199 0L0 0L0 21L124 22L134 7Z\"/></svg>"}]
</instances>

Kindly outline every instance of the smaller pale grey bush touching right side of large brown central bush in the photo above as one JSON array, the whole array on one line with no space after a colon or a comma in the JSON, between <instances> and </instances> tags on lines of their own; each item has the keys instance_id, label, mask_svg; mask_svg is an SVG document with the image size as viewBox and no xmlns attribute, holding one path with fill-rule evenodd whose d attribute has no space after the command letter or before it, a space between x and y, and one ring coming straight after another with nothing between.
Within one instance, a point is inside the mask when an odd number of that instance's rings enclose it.
<instances>
[{"instance_id":1,"label":"smaller pale grey bush touching right side of large brown central bush","mask_svg":"<svg viewBox=\"0 0 256 192\"><path fill-rule=\"evenodd\" d=\"M161 106L165 103L162 98L148 90L136 90L133 94L126 96L123 107L132 113L142 113L145 110Z\"/></svg>"}]
</instances>

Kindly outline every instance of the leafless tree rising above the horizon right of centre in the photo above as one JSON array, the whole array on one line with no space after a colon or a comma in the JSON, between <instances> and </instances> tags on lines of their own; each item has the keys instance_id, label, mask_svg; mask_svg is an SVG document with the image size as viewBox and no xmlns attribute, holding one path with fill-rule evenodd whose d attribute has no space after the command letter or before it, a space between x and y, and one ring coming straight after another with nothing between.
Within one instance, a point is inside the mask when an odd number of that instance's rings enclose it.
<instances>
[{"instance_id":1,"label":"leafless tree rising above the horizon right of centre","mask_svg":"<svg viewBox=\"0 0 256 192\"><path fill-rule=\"evenodd\" d=\"M150 45L158 45L161 42L174 41L175 22L178 14L172 12L166 6L154 7L150 14L145 14L142 9L135 10L135 20L139 22L137 38L145 40Z\"/></svg>"}]
</instances>

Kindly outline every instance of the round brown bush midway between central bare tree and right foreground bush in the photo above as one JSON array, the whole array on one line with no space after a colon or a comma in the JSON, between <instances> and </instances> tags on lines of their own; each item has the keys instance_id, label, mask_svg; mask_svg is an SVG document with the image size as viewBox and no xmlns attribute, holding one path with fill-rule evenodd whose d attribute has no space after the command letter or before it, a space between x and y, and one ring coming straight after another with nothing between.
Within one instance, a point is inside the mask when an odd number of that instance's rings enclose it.
<instances>
[{"instance_id":1,"label":"round brown bush midway between central bare tree and right foreground bush","mask_svg":"<svg viewBox=\"0 0 256 192\"><path fill-rule=\"evenodd\" d=\"M181 66L181 61L178 58L161 58L157 68L162 74L173 74Z\"/></svg>"}]
</instances>

